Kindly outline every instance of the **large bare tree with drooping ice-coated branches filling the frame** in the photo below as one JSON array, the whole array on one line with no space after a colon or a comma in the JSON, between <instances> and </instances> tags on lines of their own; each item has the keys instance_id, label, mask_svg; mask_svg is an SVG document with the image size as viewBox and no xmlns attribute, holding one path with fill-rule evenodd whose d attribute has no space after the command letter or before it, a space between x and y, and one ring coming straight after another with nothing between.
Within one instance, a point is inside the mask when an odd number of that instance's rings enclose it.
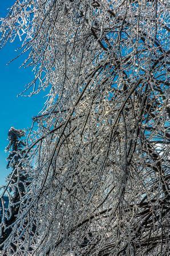
<instances>
[{"instance_id":1,"label":"large bare tree with drooping ice-coated branches filling the frame","mask_svg":"<svg viewBox=\"0 0 170 256\"><path fill-rule=\"evenodd\" d=\"M25 92L50 87L4 252L167 255L165 1L16 1L1 31L23 39Z\"/></svg>"}]
</instances>

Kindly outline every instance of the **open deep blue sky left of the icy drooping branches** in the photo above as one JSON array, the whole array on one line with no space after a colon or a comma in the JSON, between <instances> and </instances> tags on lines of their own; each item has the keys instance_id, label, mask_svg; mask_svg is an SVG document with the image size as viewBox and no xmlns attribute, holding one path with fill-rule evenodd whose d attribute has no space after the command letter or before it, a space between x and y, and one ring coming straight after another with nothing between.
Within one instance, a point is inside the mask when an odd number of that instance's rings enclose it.
<instances>
[{"instance_id":1,"label":"open deep blue sky left of the icy drooping branches","mask_svg":"<svg viewBox=\"0 0 170 256\"><path fill-rule=\"evenodd\" d=\"M7 8L15 0L0 0L0 17L5 17ZM26 83L31 81L33 74L30 69L19 69L25 59L20 57L10 65L6 65L17 56L19 41L9 43L0 50L0 186L5 185L5 177L10 173L6 170L7 154L5 147L8 144L7 133L11 126L15 129L27 129L31 126L32 117L38 115L42 109L45 93L33 95L33 97L18 97Z\"/></svg>"}]
</instances>

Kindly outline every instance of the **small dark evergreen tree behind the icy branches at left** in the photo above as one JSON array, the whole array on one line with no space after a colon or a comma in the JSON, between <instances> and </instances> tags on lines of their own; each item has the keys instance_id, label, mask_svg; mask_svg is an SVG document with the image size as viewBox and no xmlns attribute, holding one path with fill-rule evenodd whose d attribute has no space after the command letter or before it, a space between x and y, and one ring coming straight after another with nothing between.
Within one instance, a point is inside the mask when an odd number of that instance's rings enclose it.
<instances>
[{"instance_id":1,"label":"small dark evergreen tree behind the icy branches at left","mask_svg":"<svg viewBox=\"0 0 170 256\"><path fill-rule=\"evenodd\" d=\"M21 197L26 193L26 186L29 184L23 162L21 163L21 159L24 154L23 147L26 145L25 142L23 142L21 139L23 136L25 136L25 131L17 130L14 127L11 127L8 133L9 145L6 147L6 151L9 151L9 156L7 157L7 169L11 168L11 170L13 170L13 177L10 177L9 175L10 209L6 209L6 217L5 215L2 215L3 225L1 226L0 239L2 244L1 250L3 248L3 243L11 234L11 225L13 225L17 219L19 201ZM5 211L5 207L3 211ZM13 247L15 246L13 245Z\"/></svg>"}]
</instances>

